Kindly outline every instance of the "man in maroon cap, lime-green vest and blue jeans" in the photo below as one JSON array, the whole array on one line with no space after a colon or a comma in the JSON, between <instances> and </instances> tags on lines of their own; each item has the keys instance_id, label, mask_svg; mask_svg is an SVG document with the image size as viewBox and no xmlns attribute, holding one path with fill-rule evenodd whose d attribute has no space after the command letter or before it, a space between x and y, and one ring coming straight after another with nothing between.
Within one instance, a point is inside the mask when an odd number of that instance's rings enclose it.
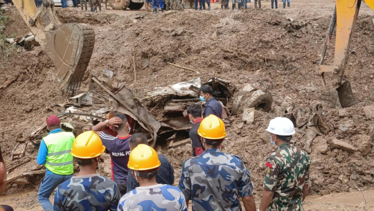
<instances>
[{"instance_id":1,"label":"man in maroon cap, lime-green vest and blue jeans","mask_svg":"<svg viewBox=\"0 0 374 211\"><path fill-rule=\"evenodd\" d=\"M60 123L57 116L46 119L49 134L42 139L37 154L37 164L46 167L37 199L46 211L53 210L49 201L53 190L73 176L73 156L70 152L75 137L71 132L62 131Z\"/></svg>"}]
</instances>

